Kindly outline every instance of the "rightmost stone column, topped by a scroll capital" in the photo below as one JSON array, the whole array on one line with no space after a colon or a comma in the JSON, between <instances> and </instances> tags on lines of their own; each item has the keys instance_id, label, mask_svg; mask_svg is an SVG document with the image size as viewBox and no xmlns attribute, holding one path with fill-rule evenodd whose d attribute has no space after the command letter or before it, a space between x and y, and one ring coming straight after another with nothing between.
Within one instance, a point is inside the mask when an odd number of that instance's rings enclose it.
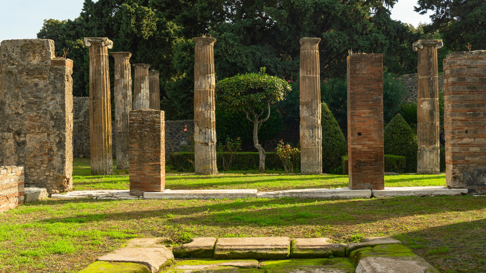
<instances>
[{"instance_id":1,"label":"rightmost stone column, topped by a scroll capital","mask_svg":"<svg viewBox=\"0 0 486 273\"><path fill-rule=\"evenodd\" d=\"M437 49L442 40L418 40L417 56L417 173L439 174L439 83Z\"/></svg>"}]
</instances>

